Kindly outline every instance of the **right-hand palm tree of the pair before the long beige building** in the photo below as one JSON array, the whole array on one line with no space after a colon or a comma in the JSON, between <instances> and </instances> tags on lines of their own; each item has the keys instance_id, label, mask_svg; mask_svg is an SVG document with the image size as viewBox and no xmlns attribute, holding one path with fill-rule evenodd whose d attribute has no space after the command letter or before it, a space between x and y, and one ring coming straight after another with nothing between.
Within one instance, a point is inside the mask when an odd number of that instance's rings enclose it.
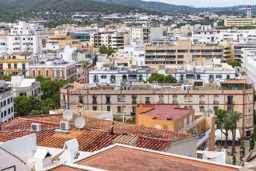
<instances>
[{"instance_id":1,"label":"right-hand palm tree of the pair before the long beige building","mask_svg":"<svg viewBox=\"0 0 256 171\"><path fill-rule=\"evenodd\" d=\"M235 151L237 122L242 118L242 113L239 113L237 111L230 111L229 113L227 113L227 117L229 117L229 119L232 122L232 126L231 126L231 132L232 132L231 152L232 152L232 155L233 155L233 152Z\"/></svg>"}]
</instances>

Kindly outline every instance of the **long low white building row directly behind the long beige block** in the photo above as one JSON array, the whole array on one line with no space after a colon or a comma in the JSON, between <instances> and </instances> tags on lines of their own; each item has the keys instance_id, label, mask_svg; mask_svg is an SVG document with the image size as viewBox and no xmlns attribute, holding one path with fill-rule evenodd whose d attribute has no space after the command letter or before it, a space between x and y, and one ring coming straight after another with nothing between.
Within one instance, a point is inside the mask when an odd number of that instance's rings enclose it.
<instances>
[{"instance_id":1,"label":"long low white building row directly behind the long beige block","mask_svg":"<svg viewBox=\"0 0 256 171\"><path fill-rule=\"evenodd\" d=\"M178 82L194 82L195 86L203 86L204 83L224 82L226 79L235 79L235 70L219 59L213 62L192 62L183 66L159 65L153 67L131 68L103 68L89 72L89 83L121 84L139 83L146 81L153 73L172 75Z\"/></svg>"}]
</instances>

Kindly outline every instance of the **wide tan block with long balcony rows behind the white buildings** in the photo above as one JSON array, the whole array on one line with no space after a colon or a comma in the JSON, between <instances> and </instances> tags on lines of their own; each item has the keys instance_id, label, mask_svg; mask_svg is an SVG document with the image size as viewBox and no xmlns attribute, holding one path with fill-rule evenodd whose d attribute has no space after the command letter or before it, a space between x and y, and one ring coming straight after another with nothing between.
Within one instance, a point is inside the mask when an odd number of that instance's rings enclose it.
<instances>
[{"instance_id":1,"label":"wide tan block with long balcony rows behind the white buildings","mask_svg":"<svg viewBox=\"0 0 256 171\"><path fill-rule=\"evenodd\" d=\"M189 61L230 61L230 51L223 44L196 44L190 40L178 40L175 45L146 46L146 65L184 65Z\"/></svg>"}]
</instances>

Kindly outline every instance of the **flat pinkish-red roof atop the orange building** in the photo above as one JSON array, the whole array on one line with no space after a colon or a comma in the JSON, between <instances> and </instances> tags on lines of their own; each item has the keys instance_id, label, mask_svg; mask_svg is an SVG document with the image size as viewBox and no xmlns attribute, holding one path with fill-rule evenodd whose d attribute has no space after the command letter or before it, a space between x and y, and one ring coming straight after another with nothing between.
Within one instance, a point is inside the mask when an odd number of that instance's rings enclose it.
<instances>
[{"instance_id":1,"label":"flat pinkish-red roof atop the orange building","mask_svg":"<svg viewBox=\"0 0 256 171\"><path fill-rule=\"evenodd\" d=\"M172 104L139 104L138 107L153 107L153 109L140 113L147 116L152 116L155 120L177 120L185 114L191 112L189 109L177 107Z\"/></svg>"}]
</instances>

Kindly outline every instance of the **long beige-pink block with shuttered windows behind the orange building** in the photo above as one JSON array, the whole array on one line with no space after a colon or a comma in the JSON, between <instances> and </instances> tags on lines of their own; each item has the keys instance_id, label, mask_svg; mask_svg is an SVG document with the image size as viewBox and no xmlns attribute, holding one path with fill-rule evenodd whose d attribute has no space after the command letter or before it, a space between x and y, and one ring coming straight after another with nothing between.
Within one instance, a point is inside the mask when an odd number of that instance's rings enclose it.
<instances>
[{"instance_id":1,"label":"long beige-pink block with shuttered windows behind the orange building","mask_svg":"<svg viewBox=\"0 0 256 171\"><path fill-rule=\"evenodd\" d=\"M181 107L205 112L224 109L243 113L237 123L242 137L253 129L254 88L245 80L226 80L221 86L93 86L68 84L61 88L61 108L75 109L83 103L87 110L112 110L114 115L135 117L139 103L180 104Z\"/></svg>"}]
</instances>

